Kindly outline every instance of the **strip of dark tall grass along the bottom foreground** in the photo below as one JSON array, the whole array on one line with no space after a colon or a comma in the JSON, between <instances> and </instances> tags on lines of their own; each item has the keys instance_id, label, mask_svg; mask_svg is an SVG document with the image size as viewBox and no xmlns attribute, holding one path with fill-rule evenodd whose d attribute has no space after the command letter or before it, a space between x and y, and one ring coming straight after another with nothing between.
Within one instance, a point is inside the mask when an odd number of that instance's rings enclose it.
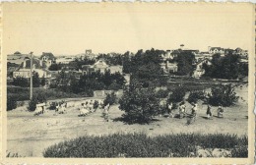
<instances>
[{"instance_id":1,"label":"strip of dark tall grass along the bottom foreground","mask_svg":"<svg viewBox=\"0 0 256 165\"><path fill-rule=\"evenodd\" d=\"M178 134L148 137L146 134L86 136L52 145L44 157L215 157L214 150L225 149L226 157L247 157L248 138L228 134Z\"/></svg>"}]
</instances>

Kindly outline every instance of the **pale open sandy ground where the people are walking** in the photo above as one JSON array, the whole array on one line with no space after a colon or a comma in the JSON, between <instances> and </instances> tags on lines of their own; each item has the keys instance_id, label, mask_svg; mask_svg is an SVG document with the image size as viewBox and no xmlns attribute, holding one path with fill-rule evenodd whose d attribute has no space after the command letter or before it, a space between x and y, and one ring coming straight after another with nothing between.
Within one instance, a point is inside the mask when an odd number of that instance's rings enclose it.
<instances>
[{"instance_id":1,"label":"pale open sandy ground where the people are walking","mask_svg":"<svg viewBox=\"0 0 256 165\"><path fill-rule=\"evenodd\" d=\"M65 139L84 135L108 135L118 132L143 132L149 136L178 133L247 135L247 87L237 88L236 92L242 99L239 99L236 105L224 108L224 119L214 117L213 120L207 120L205 118L207 106L199 104L199 117L195 123L189 126L186 125L186 119L165 117L157 117L157 121L150 125L127 125L116 120L123 114L118 109L118 105L110 107L109 122L102 118L101 109L97 109L96 112L87 117L78 117L78 107L82 100L73 100L70 103L71 106L75 107L69 107L67 114L57 116L54 115L54 111L33 116L32 112L25 110L26 107L19 107L8 112L7 152L18 153L27 157L41 157L46 147ZM191 109L191 105L188 103L187 109ZM217 115L217 107L213 107L213 109L214 115ZM177 110L174 113L178 113Z\"/></svg>"}]
</instances>

